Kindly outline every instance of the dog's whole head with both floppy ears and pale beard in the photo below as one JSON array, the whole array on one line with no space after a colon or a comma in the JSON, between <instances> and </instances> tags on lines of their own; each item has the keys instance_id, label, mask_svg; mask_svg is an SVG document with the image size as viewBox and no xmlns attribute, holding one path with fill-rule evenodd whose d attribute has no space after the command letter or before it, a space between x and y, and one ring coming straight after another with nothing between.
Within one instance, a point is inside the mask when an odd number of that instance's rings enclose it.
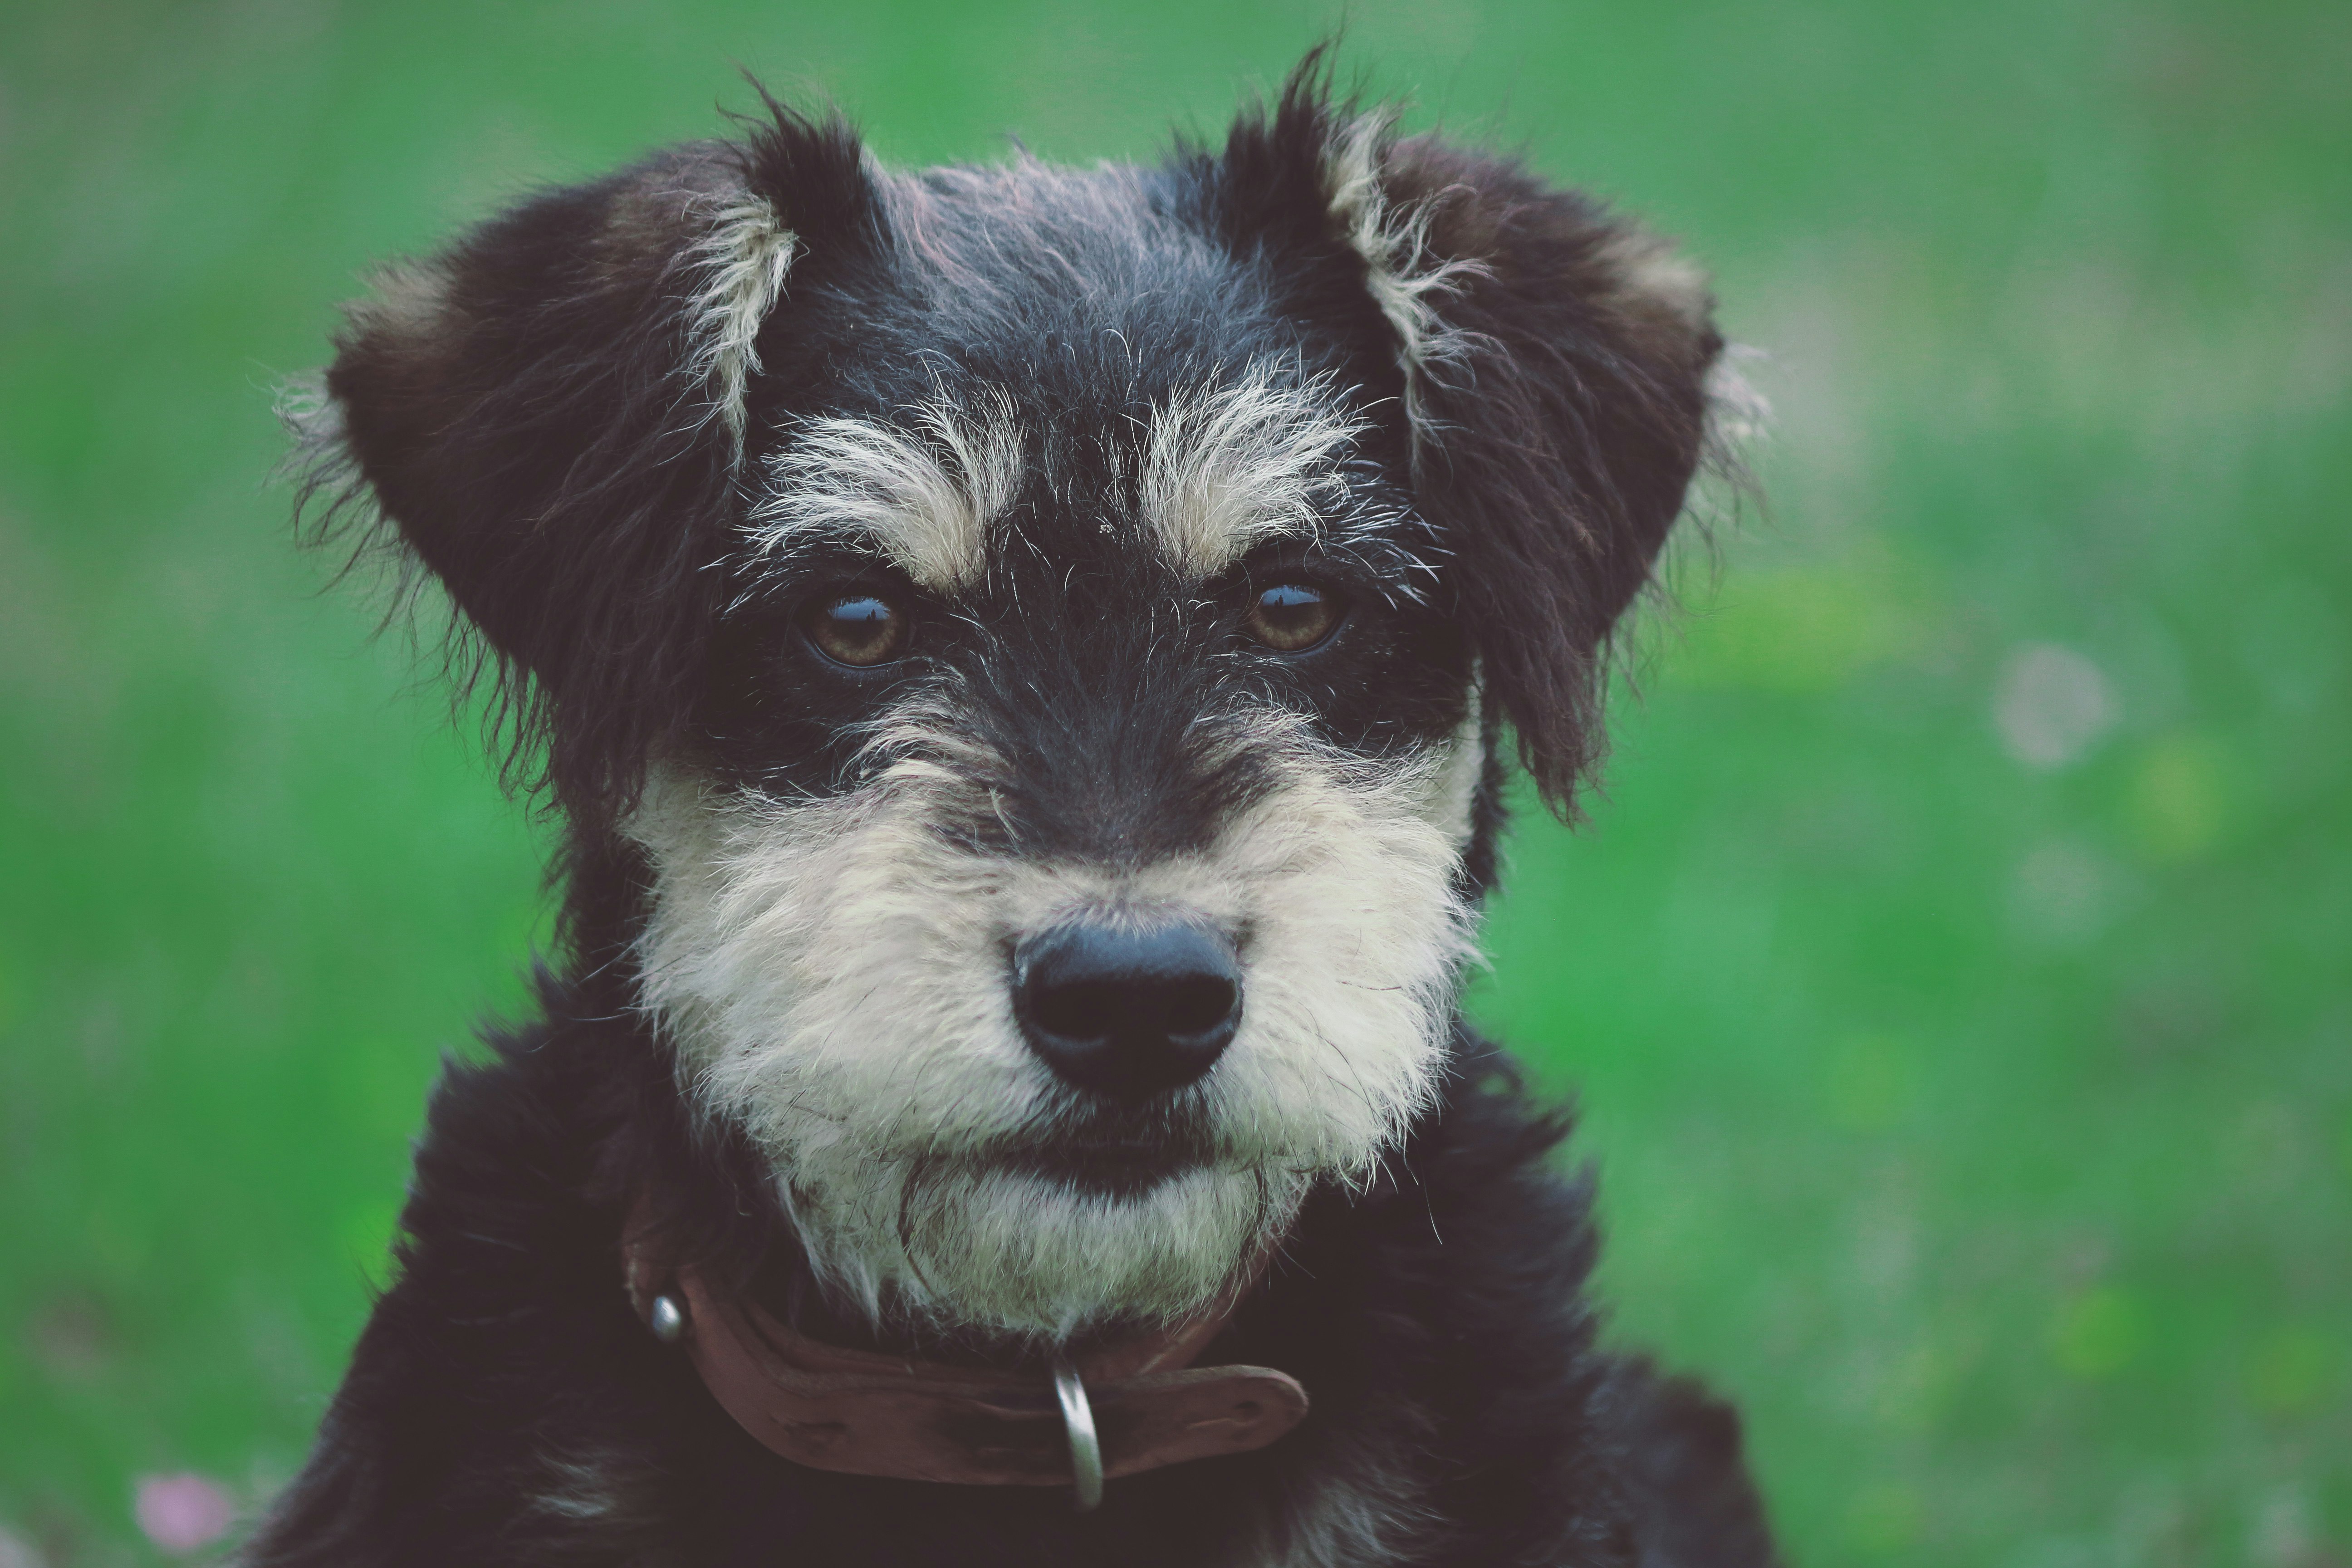
<instances>
[{"instance_id":1,"label":"dog's whole head with both floppy ears and pale beard","mask_svg":"<svg viewBox=\"0 0 2352 1568\"><path fill-rule=\"evenodd\" d=\"M1498 736L1566 809L1705 287L1312 73L1157 169L771 110L393 273L339 449L642 856L644 1006L837 1291L1185 1314L1428 1105Z\"/></svg>"}]
</instances>

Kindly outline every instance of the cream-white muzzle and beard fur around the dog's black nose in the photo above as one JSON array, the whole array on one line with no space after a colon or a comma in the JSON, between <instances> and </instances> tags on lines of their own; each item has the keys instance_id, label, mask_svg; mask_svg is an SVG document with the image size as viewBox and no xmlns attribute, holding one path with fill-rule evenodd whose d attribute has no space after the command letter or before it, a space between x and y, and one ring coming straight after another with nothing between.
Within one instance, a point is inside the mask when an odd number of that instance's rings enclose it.
<instances>
[{"instance_id":1,"label":"cream-white muzzle and beard fur around the dog's black nose","mask_svg":"<svg viewBox=\"0 0 2352 1568\"><path fill-rule=\"evenodd\" d=\"M659 766L628 832L652 858L644 1004L706 1112L771 1161L816 1272L875 1319L1061 1340L1176 1321L1357 1182L1435 1091L1470 910L1456 893L1475 722L1367 764L1272 717L1279 783L1216 842L1136 870L983 856L962 745L830 799L776 802ZM1002 1164L1073 1105L1021 1037L1016 938L1080 910L1181 910L1240 938L1242 1023L1178 1091L1211 1157L1138 1194Z\"/></svg>"}]
</instances>

